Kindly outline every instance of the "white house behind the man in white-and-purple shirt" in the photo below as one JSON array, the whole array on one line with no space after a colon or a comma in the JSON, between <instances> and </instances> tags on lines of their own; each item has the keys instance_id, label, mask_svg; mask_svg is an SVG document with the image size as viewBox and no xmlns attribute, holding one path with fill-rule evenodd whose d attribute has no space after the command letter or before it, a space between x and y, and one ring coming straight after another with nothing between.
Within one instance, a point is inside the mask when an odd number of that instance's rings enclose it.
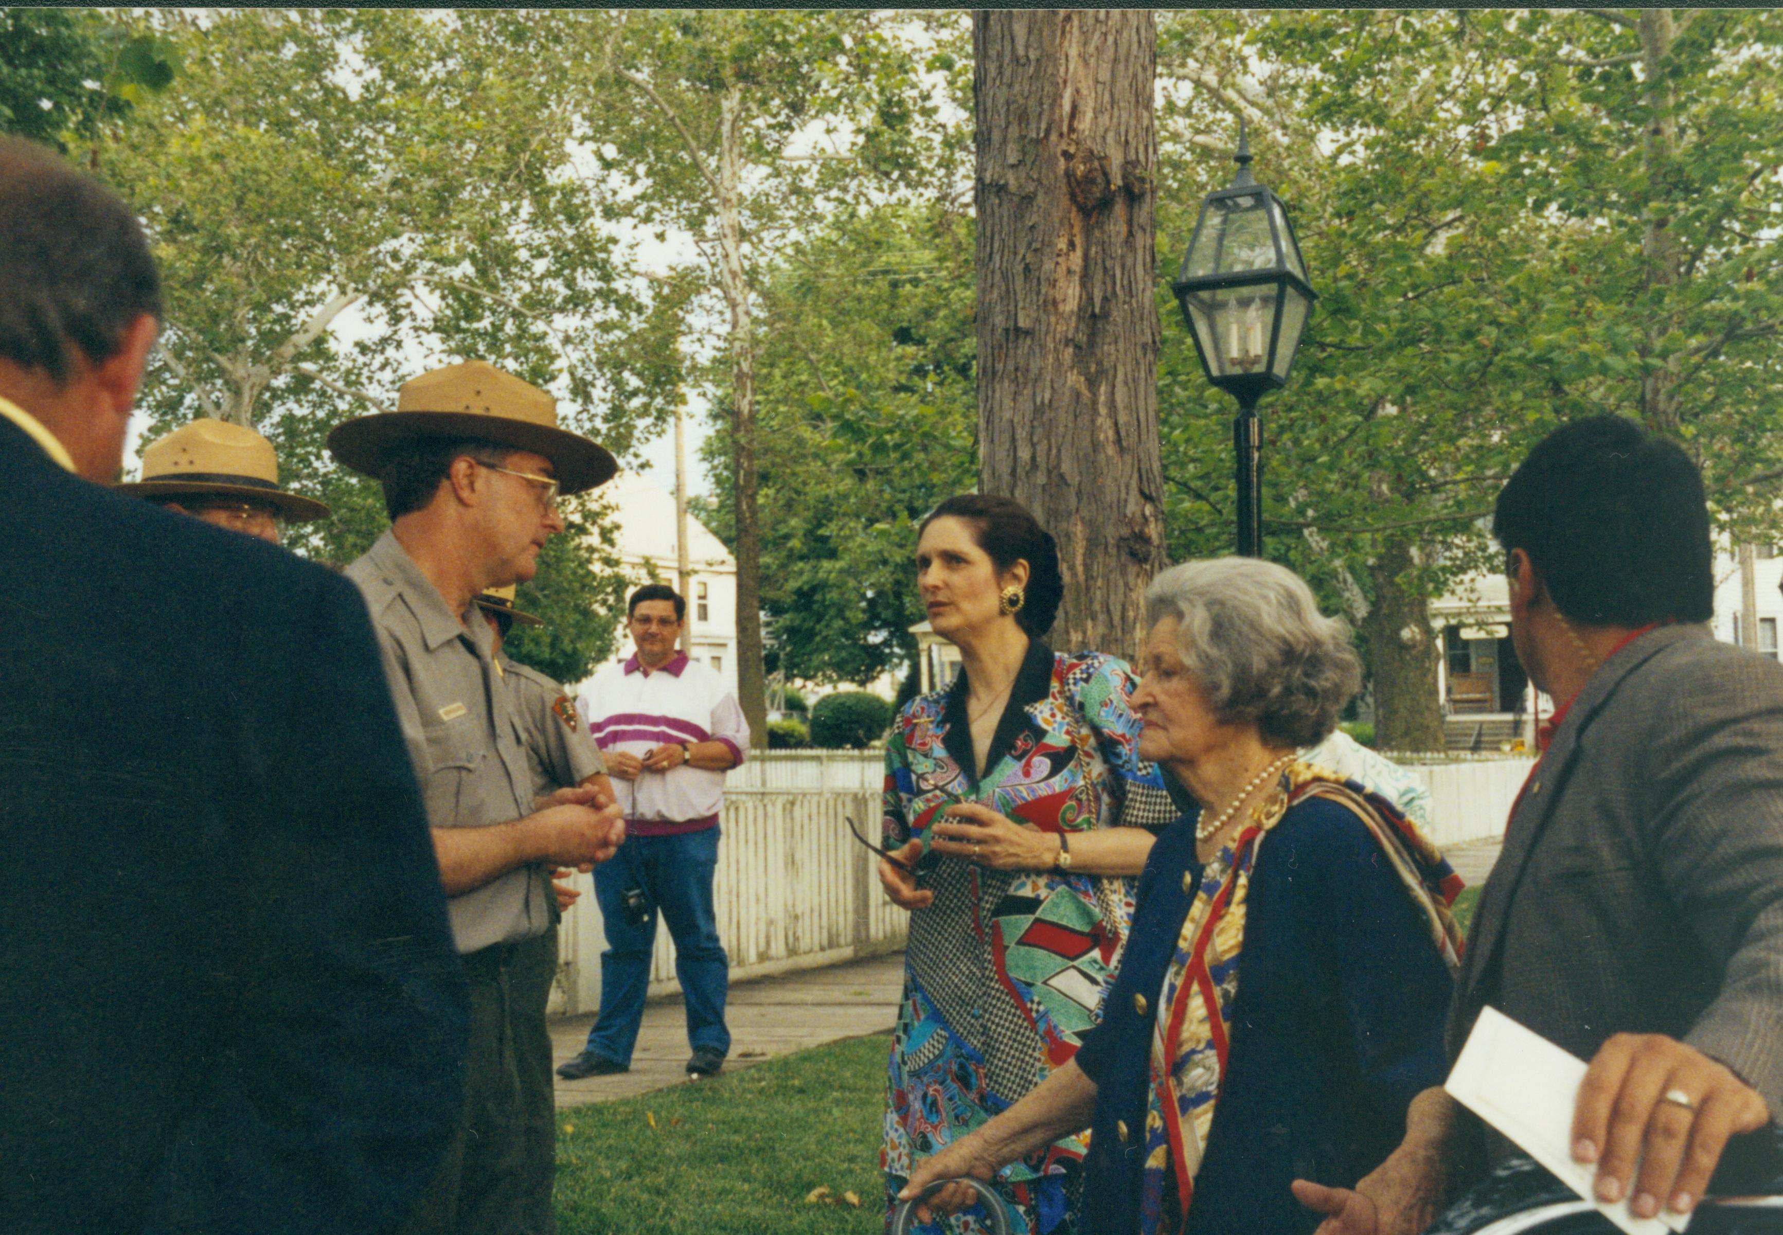
<instances>
[{"instance_id":1,"label":"white house behind the man in white-and-purple shirt","mask_svg":"<svg viewBox=\"0 0 1783 1235\"><path fill-rule=\"evenodd\" d=\"M654 581L676 586L674 494L635 472L620 472L601 494L613 504L615 547L628 585L635 588ZM736 558L692 515L686 517L686 654L717 670L736 693ZM631 656L624 622L617 634L612 661L622 663ZM581 683L571 693L578 690Z\"/></svg>"}]
</instances>

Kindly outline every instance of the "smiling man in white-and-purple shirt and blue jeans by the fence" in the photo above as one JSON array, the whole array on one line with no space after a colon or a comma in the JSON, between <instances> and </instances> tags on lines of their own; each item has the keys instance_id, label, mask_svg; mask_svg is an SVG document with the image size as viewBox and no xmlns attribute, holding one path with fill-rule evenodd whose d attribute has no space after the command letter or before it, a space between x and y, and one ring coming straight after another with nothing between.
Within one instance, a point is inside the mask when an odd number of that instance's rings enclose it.
<instances>
[{"instance_id":1,"label":"smiling man in white-and-purple shirt and blue jeans by the fence","mask_svg":"<svg viewBox=\"0 0 1783 1235\"><path fill-rule=\"evenodd\" d=\"M594 896L606 923L601 1014L588 1044L558 1067L581 1080L631 1067L656 948L656 914L674 939L674 968L686 1003L686 1071L724 1066L729 959L719 943L711 877L719 866L724 773L749 752L749 724L724 679L676 649L686 601L649 583L631 593L626 626L637 652L608 665L576 700L606 756L626 814L626 845L596 868Z\"/></svg>"}]
</instances>

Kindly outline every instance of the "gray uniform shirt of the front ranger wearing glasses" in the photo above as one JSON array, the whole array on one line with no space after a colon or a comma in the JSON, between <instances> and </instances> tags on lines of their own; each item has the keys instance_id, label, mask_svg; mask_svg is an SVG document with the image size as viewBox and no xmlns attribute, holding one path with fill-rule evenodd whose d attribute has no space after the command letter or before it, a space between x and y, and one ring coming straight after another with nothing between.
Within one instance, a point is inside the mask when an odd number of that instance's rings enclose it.
<instances>
[{"instance_id":1,"label":"gray uniform shirt of the front ranger wearing glasses","mask_svg":"<svg viewBox=\"0 0 1783 1235\"><path fill-rule=\"evenodd\" d=\"M460 620L389 531L346 568L346 577L371 609L428 823L489 827L531 814L524 736L496 672L494 636L476 604L472 620ZM553 904L538 866L510 870L446 902L462 953L544 934Z\"/></svg>"}]
</instances>

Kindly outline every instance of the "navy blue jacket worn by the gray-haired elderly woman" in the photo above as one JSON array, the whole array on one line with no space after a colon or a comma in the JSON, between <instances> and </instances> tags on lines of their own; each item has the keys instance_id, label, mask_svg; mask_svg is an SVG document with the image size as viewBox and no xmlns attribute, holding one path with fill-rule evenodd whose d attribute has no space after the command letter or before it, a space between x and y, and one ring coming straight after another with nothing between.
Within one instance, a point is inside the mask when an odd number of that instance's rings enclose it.
<instances>
[{"instance_id":1,"label":"navy blue jacket worn by the gray-haired elderly woman","mask_svg":"<svg viewBox=\"0 0 1783 1235\"><path fill-rule=\"evenodd\" d=\"M1077 1051L1097 1084L1086 1235L1139 1230L1152 1025L1202 877L1196 818L1182 816L1152 847L1102 1023ZM1378 841L1335 802L1305 800L1277 823L1246 905L1227 1071L1187 1230L1312 1231L1319 1217L1287 1185L1350 1187L1400 1144L1405 1108L1446 1075L1453 982Z\"/></svg>"}]
</instances>

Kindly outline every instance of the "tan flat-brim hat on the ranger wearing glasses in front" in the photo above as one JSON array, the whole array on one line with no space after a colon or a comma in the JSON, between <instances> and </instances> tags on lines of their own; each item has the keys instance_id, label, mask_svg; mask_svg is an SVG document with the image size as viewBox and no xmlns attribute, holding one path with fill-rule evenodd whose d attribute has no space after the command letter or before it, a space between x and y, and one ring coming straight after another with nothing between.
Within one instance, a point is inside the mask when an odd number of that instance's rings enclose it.
<instances>
[{"instance_id":1,"label":"tan flat-brim hat on the ranger wearing glasses in front","mask_svg":"<svg viewBox=\"0 0 1783 1235\"><path fill-rule=\"evenodd\" d=\"M474 438L544 454L563 494L594 488L619 470L604 446L558 428L556 399L483 360L405 381L394 412L337 424L328 451L355 472L385 479L390 451L428 437Z\"/></svg>"}]
</instances>

